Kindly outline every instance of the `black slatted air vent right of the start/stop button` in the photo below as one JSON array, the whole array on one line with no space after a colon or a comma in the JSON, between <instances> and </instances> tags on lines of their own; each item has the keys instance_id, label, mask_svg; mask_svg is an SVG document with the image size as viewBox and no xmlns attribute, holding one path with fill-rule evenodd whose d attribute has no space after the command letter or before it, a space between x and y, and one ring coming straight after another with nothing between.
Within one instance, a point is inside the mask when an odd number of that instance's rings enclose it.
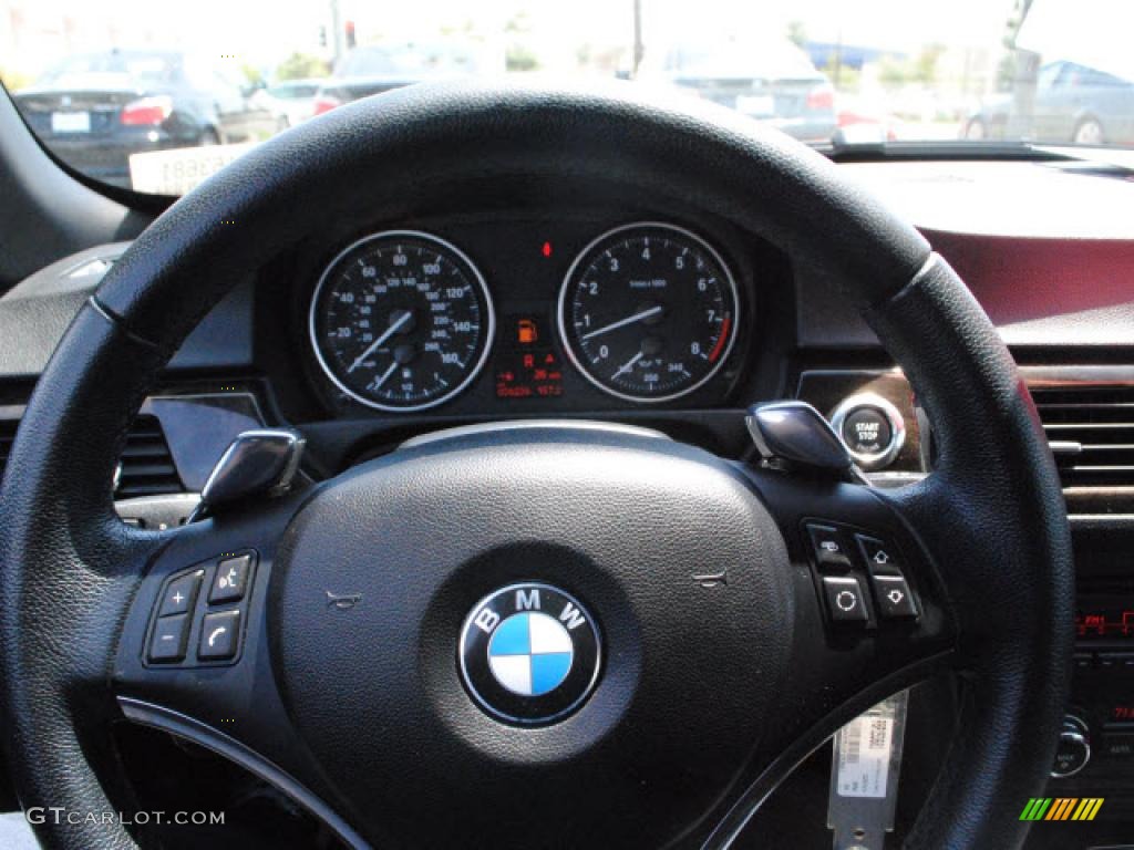
<instances>
[{"instance_id":1,"label":"black slatted air vent right of the start/stop button","mask_svg":"<svg viewBox=\"0 0 1134 850\"><path fill-rule=\"evenodd\" d=\"M1134 511L1134 386L1043 386L1032 397L1069 511Z\"/></svg>"}]
</instances>

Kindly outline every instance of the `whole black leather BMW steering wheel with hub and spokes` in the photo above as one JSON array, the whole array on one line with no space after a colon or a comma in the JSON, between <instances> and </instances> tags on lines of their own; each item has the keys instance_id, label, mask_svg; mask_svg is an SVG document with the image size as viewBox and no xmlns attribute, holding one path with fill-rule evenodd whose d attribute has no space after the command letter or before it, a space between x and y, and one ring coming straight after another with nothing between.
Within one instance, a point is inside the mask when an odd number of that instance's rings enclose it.
<instances>
[{"instance_id":1,"label":"whole black leather BMW steering wheel with hub and spokes","mask_svg":"<svg viewBox=\"0 0 1134 850\"><path fill-rule=\"evenodd\" d=\"M840 281L933 422L932 474L879 492L559 424L441 435L176 533L118 520L107 482L127 426L236 281L329 219L366 221L375 198L412 215L456 186L490 206L503 186L577 180L713 210ZM900 553L916 618L832 624L807 561L814 518ZM964 732L907 844L1007 848L1067 696L1059 483L980 306L819 154L628 85L415 86L285 133L185 196L40 379L0 534L0 683L25 807L128 807L108 734L125 715L247 766L357 847L720 848L841 724L949 670ZM197 646L232 553L251 555L237 655L152 663L169 580L204 577ZM515 712L485 711L458 660L469 622L491 620L482 601L516 585L517 610L542 587L551 620L569 619L560 603L587 618L592 655L575 661L598 674L558 716L519 690ZM137 840L102 819L36 831L75 850Z\"/></svg>"}]
</instances>

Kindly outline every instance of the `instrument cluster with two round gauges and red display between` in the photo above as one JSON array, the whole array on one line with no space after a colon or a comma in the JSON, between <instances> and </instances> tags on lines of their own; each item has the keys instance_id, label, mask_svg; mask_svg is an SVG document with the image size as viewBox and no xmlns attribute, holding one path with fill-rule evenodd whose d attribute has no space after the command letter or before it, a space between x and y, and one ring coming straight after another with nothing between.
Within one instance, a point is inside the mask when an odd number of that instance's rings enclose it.
<instances>
[{"instance_id":1,"label":"instrument cluster with two round gauges and red display between","mask_svg":"<svg viewBox=\"0 0 1134 850\"><path fill-rule=\"evenodd\" d=\"M589 237L569 263L544 240L540 281L448 230L355 239L322 270L306 316L328 389L387 413L442 408L489 381L498 399L558 399L576 376L623 405L694 397L752 324L728 252L665 221Z\"/></svg>"}]
</instances>

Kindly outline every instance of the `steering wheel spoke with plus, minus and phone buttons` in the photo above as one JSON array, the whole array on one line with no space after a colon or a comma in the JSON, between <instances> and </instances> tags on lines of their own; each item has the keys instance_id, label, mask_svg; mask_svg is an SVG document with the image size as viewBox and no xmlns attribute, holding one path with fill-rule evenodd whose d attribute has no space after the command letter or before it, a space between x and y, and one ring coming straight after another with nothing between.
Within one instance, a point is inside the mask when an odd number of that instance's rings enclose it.
<instances>
[{"instance_id":1,"label":"steering wheel spoke with plus, minus and phone buttons","mask_svg":"<svg viewBox=\"0 0 1134 850\"><path fill-rule=\"evenodd\" d=\"M127 720L219 753L290 796L352 845L284 707L271 669L268 588L304 494L181 528L126 615L112 675ZM341 601L313 600L327 607Z\"/></svg>"}]
</instances>

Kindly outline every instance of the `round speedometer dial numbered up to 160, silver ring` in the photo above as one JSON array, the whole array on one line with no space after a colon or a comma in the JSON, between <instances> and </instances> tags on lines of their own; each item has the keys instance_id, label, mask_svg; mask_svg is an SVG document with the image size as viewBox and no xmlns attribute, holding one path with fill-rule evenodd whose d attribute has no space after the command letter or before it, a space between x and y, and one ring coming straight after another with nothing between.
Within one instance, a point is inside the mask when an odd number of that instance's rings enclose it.
<instances>
[{"instance_id":1,"label":"round speedometer dial numbered up to 160, silver ring","mask_svg":"<svg viewBox=\"0 0 1134 850\"><path fill-rule=\"evenodd\" d=\"M359 239L323 272L310 329L320 365L381 410L422 410L464 390L488 357L492 301L476 266L430 233Z\"/></svg>"}]
</instances>

